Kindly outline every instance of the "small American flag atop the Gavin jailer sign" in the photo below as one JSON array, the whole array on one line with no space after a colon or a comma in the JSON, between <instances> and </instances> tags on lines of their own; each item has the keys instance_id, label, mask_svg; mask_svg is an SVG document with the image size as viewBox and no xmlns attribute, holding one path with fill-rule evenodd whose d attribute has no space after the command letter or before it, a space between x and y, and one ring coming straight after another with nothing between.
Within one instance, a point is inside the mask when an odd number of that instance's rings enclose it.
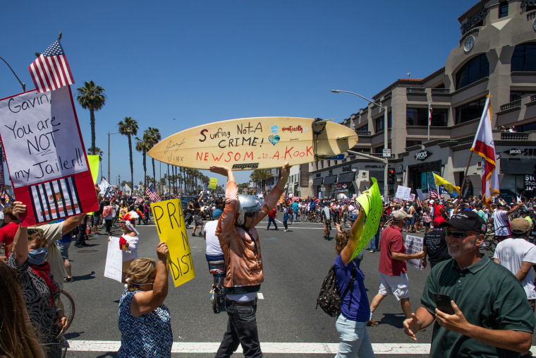
<instances>
[{"instance_id":1,"label":"small American flag atop the Gavin jailer sign","mask_svg":"<svg viewBox=\"0 0 536 358\"><path fill-rule=\"evenodd\" d=\"M59 40L52 42L49 48L28 66L28 70L38 93L75 83Z\"/></svg>"}]
</instances>

